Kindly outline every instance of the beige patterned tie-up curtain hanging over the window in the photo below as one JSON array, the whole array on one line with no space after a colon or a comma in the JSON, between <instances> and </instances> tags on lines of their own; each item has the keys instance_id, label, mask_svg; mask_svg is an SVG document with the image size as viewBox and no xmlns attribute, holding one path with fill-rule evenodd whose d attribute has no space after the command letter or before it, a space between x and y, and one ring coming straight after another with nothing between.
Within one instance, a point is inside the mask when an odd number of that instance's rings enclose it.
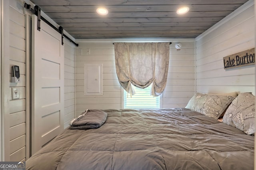
<instances>
[{"instance_id":1,"label":"beige patterned tie-up curtain hanging over the window","mask_svg":"<svg viewBox=\"0 0 256 170\"><path fill-rule=\"evenodd\" d=\"M166 86L169 43L114 43L116 74L121 86L135 94L132 84L146 88L151 83L151 95L159 96Z\"/></svg>"}]
</instances>

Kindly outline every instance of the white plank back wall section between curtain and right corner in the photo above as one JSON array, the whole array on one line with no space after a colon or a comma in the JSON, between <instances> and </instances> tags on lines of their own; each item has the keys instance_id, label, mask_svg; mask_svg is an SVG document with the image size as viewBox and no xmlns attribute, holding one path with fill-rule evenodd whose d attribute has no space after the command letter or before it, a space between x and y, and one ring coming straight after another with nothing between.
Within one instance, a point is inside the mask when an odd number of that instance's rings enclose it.
<instances>
[{"instance_id":1,"label":"white plank back wall section between curtain and right corner","mask_svg":"<svg viewBox=\"0 0 256 170\"><path fill-rule=\"evenodd\" d=\"M185 107L195 92L195 43L180 42L182 48L170 45L168 79L162 97L163 108Z\"/></svg>"}]
</instances>

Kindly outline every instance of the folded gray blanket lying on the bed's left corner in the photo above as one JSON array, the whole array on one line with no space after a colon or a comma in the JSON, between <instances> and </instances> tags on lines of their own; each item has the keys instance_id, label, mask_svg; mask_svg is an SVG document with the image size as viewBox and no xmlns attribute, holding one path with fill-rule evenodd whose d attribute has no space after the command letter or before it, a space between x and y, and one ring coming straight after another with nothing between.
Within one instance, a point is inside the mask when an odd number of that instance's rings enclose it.
<instances>
[{"instance_id":1,"label":"folded gray blanket lying on the bed's left corner","mask_svg":"<svg viewBox=\"0 0 256 170\"><path fill-rule=\"evenodd\" d=\"M70 122L70 129L95 129L103 125L108 114L102 110L86 109Z\"/></svg>"}]
</instances>

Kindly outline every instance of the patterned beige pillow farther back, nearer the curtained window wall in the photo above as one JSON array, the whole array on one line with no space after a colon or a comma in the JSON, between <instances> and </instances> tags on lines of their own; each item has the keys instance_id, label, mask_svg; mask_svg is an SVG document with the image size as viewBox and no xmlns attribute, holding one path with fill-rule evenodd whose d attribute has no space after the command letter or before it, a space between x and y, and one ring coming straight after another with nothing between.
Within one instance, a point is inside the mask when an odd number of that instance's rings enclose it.
<instances>
[{"instance_id":1,"label":"patterned beige pillow farther back, nearer the curtained window wall","mask_svg":"<svg viewBox=\"0 0 256 170\"><path fill-rule=\"evenodd\" d=\"M232 100L234 100L232 96L196 93L190 99L186 108L218 119Z\"/></svg>"}]
</instances>

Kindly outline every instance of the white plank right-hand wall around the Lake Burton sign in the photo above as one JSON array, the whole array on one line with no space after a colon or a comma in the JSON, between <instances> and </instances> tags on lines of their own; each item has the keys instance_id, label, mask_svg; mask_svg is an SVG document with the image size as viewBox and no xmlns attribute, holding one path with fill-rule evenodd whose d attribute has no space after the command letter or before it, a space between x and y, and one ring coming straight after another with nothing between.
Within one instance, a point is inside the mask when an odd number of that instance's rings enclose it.
<instances>
[{"instance_id":1,"label":"white plank right-hand wall around the Lake Burton sign","mask_svg":"<svg viewBox=\"0 0 256 170\"><path fill-rule=\"evenodd\" d=\"M223 64L223 57L255 47L254 23L254 6L250 6L215 30L196 38L197 92L255 94L254 65L224 70Z\"/></svg>"}]
</instances>

